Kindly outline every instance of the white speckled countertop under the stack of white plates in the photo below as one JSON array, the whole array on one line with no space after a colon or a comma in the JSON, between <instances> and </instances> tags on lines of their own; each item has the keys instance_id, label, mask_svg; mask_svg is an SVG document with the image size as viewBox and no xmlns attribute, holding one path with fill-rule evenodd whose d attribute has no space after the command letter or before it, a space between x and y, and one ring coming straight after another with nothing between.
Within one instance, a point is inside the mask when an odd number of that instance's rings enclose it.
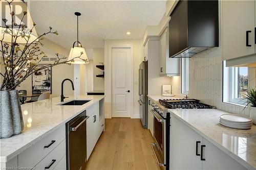
<instances>
[{"instance_id":1,"label":"white speckled countertop under the stack of white plates","mask_svg":"<svg viewBox=\"0 0 256 170\"><path fill-rule=\"evenodd\" d=\"M248 169L256 169L256 126L237 130L219 124L217 109L169 109L172 115Z\"/></svg>"}]
</instances>

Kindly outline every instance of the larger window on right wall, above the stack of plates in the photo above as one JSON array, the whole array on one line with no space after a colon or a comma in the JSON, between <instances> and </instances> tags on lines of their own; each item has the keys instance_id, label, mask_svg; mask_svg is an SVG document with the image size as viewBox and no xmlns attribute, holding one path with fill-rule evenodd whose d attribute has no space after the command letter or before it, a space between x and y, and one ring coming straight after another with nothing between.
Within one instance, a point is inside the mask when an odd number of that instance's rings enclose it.
<instances>
[{"instance_id":1,"label":"larger window on right wall, above the stack of plates","mask_svg":"<svg viewBox=\"0 0 256 170\"><path fill-rule=\"evenodd\" d=\"M248 67L226 67L223 62L223 102L246 105L242 100L248 89Z\"/></svg>"}]
</instances>

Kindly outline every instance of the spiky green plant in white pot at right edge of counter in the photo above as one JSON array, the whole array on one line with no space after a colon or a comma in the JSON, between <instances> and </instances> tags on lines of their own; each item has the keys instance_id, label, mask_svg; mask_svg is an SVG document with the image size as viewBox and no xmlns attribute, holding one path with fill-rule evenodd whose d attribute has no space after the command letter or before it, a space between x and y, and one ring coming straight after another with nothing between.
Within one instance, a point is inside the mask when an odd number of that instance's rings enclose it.
<instances>
[{"instance_id":1,"label":"spiky green plant in white pot at right edge of counter","mask_svg":"<svg viewBox=\"0 0 256 170\"><path fill-rule=\"evenodd\" d=\"M250 118L253 124L256 125L256 88L249 88L247 94L244 95L245 104L247 107L249 105Z\"/></svg>"}]
</instances>

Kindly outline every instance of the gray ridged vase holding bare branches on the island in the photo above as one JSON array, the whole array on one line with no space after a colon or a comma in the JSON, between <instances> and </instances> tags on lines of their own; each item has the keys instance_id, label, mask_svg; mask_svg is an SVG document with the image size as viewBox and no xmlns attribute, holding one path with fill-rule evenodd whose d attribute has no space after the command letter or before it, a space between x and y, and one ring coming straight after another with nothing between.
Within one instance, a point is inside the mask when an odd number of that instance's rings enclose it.
<instances>
[{"instance_id":1,"label":"gray ridged vase holding bare branches on the island","mask_svg":"<svg viewBox=\"0 0 256 170\"><path fill-rule=\"evenodd\" d=\"M23 129L18 90L0 91L0 138L17 135Z\"/></svg>"}]
</instances>

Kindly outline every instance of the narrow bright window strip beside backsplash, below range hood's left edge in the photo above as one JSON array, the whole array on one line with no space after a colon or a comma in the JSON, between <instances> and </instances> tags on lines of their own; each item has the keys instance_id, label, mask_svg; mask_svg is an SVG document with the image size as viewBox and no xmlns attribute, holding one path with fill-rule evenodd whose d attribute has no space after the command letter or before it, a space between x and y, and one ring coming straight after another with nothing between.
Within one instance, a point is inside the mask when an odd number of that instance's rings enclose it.
<instances>
[{"instance_id":1,"label":"narrow bright window strip beside backsplash, below range hood's left edge","mask_svg":"<svg viewBox=\"0 0 256 170\"><path fill-rule=\"evenodd\" d=\"M181 59L181 93L188 94L188 59Z\"/></svg>"}]
</instances>

